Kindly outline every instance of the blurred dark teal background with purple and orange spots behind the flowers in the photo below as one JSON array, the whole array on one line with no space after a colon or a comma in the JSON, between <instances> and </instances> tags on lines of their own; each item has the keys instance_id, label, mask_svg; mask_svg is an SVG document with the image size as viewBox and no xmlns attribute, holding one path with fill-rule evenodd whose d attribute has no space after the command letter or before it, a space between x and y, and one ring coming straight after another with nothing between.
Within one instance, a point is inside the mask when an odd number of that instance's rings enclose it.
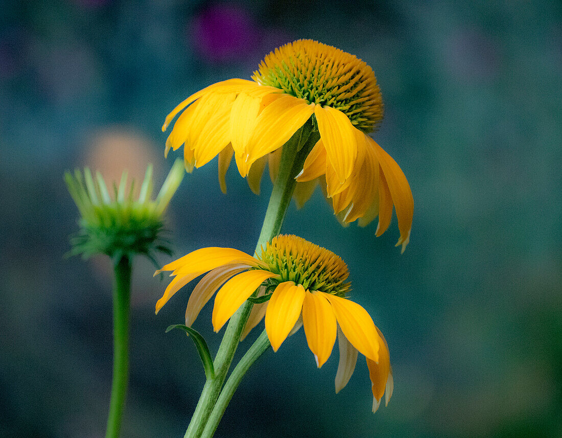
<instances>
[{"instance_id":1,"label":"blurred dark teal background with purple and orange spots behind the flowers","mask_svg":"<svg viewBox=\"0 0 562 438\"><path fill-rule=\"evenodd\" d=\"M315 192L285 232L347 261L354 297L391 350L395 394L371 414L362 360L334 394L302 330L248 373L219 437L562 436L560 2L15 1L0 8L0 437L101 437L111 380L110 265L65 259L78 212L66 169L116 178L155 164L165 115L211 83L249 78L271 49L313 38L371 65L386 103L375 139L415 198L396 220L343 229ZM255 196L216 160L169 211L176 255L252 251ZM161 258L161 263L169 259ZM185 287L135 260L123 437L183 436L204 374L179 332ZM210 306L209 306L210 307ZM196 323L216 351L210 308ZM253 337L257 336L257 331ZM247 347L250 341L245 341Z\"/></svg>"}]
</instances>

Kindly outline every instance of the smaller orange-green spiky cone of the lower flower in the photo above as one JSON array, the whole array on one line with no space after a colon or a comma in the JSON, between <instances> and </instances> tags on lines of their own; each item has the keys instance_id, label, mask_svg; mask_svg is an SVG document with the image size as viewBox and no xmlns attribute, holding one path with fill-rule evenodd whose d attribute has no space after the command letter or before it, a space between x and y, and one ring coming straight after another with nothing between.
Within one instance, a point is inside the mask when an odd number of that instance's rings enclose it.
<instances>
[{"instance_id":1,"label":"smaller orange-green spiky cone of the lower flower","mask_svg":"<svg viewBox=\"0 0 562 438\"><path fill-rule=\"evenodd\" d=\"M302 237L281 235L262 247L261 261L279 274L282 282L293 281L309 291L345 296L351 283L345 262L332 251L314 245Z\"/></svg>"}]
</instances>

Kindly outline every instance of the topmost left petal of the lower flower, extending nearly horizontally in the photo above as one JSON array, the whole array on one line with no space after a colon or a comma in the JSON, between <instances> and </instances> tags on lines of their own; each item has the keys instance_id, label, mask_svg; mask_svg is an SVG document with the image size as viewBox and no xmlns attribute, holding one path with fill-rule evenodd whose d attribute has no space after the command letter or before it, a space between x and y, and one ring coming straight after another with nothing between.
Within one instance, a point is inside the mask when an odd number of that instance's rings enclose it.
<instances>
[{"instance_id":1,"label":"topmost left petal of the lower flower, extending nearly horizontally","mask_svg":"<svg viewBox=\"0 0 562 438\"><path fill-rule=\"evenodd\" d=\"M253 258L246 252L235 250L234 248L221 248L211 246L209 248L201 248L190 252L177 260L171 261L164 265L162 269L155 272L155 276L161 272L171 270L176 274L186 274L189 272L207 272L221 265L226 265L239 261L239 263L248 264L253 267L265 266L261 261Z\"/></svg>"}]
</instances>

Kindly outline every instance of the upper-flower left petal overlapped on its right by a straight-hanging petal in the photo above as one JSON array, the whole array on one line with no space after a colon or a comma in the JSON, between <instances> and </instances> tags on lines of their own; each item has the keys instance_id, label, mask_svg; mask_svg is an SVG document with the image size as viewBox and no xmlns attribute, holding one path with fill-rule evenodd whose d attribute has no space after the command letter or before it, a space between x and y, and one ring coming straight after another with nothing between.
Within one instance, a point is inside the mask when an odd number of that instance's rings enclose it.
<instances>
[{"instance_id":1,"label":"upper-flower left petal overlapped on its right by a straight-hanging petal","mask_svg":"<svg viewBox=\"0 0 562 438\"><path fill-rule=\"evenodd\" d=\"M225 94L203 125L193 146L198 168L214 159L230 142L230 107L234 98L234 93Z\"/></svg>"}]
</instances>

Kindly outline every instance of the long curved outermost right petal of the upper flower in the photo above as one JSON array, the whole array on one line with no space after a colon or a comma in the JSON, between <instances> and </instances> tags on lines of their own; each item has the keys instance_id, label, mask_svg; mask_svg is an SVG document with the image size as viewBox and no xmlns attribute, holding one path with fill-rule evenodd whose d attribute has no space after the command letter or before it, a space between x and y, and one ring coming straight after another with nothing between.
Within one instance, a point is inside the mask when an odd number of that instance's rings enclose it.
<instances>
[{"instance_id":1,"label":"long curved outermost right petal of the upper flower","mask_svg":"<svg viewBox=\"0 0 562 438\"><path fill-rule=\"evenodd\" d=\"M407 240L409 240L410 237L414 216L414 197L412 196L410 184L396 161L372 138L369 137L368 141L373 145L373 150L380 162L380 168L384 173L389 191L392 195L392 202L394 203L396 217L398 219L398 229L400 229L400 241L398 245L402 245L402 251L404 251Z\"/></svg>"}]
</instances>

